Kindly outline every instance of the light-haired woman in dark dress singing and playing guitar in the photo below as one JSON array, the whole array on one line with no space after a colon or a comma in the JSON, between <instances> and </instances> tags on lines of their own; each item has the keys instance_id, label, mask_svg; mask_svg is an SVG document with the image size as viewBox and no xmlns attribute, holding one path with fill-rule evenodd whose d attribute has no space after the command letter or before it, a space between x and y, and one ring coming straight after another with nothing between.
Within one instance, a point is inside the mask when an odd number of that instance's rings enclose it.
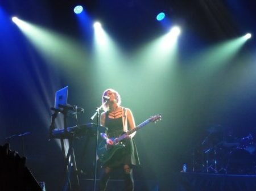
<instances>
[{"instance_id":1,"label":"light-haired woman in dark dress singing and playing guitar","mask_svg":"<svg viewBox=\"0 0 256 191\"><path fill-rule=\"evenodd\" d=\"M108 97L108 101L106 100ZM130 109L121 107L121 97L117 91L113 89L105 90L102 95L102 103L104 111L101 113L101 125L108 128L108 132L101 134L101 137L106 140L108 146L113 146L114 142L110 138L117 138L123 132L135 128L133 113ZM125 147L117 150L111 159L103 164L104 174L100 179L98 186L99 191L106 189L110 172L116 168L122 168L124 172L125 190L133 191L133 167L139 164L137 149L133 140L133 134L127 135L123 141Z\"/></svg>"}]
</instances>

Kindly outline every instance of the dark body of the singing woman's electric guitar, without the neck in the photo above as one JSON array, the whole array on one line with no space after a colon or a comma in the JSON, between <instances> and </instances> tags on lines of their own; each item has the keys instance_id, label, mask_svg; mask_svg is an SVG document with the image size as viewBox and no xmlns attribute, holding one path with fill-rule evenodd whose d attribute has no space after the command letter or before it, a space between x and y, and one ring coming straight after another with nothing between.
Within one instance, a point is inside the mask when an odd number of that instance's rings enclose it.
<instances>
[{"instance_id":1,"label":"dark body of the singing woman's electric guitar, without the neck","mask_svg":"<svg viewBox=\"0 0 256 191\"><path fill-rule=\"evenodd\" d=\"M124 147L125 145L121 143L109 147L105 141L101 141L101 143L98 146L98 159L101 163L106 163L113 157L117 150Z\"/></svg>"}]
</instances>

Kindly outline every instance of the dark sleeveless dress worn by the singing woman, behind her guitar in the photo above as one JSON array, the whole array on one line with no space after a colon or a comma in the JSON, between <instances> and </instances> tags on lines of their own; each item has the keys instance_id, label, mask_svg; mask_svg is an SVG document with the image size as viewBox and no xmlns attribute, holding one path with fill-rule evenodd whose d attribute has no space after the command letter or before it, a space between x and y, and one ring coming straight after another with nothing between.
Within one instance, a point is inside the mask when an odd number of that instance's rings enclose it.
<instances>
[{"instance_id":1,"label":"dark sleeveless dress worn by the singing woman, behind her guitar","mask_svg":"<svg viewBox=\"0 0 256 191\"><path fill-rule=\"evenodd\" d=\"M107 135L109 138L119 137L123 133L122 117L109 118L109 112L106 112L105 126L108 128ZM123 139L125 147L115 152L113 157L104 164L105 167L117 168L124 164L139 165L139 157L134 139Z\"/></svg>"}]
</instances>

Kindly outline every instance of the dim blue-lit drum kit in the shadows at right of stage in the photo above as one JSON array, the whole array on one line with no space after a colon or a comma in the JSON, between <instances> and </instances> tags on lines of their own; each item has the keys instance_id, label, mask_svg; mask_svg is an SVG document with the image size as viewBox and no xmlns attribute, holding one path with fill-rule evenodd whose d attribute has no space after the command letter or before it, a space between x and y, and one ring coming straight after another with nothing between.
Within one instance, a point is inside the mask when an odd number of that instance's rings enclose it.
<instances>
[{"instance_id":1,"label":"dim blue-lit drum kit in the shadows at right of stage","mask_svg":"<svg viewBox=\"0 0 256 191\"><path fill-rule=\"evenodd\" d=\"M200 146L193 149L193 172L256 173L256 144L251 133L238 138L221 125L211 126L207 133Z\"/></svg>"}]
</instances>

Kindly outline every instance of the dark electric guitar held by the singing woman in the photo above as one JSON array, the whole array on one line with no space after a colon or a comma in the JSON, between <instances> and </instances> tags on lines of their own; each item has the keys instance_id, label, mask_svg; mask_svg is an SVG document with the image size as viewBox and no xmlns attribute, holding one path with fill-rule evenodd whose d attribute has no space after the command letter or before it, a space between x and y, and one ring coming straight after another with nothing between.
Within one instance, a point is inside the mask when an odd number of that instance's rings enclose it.
<instances>
[{"instance_id":1,"label":"dark electric guitar held by the singing woman","mask_svg":"<svg viewBox=\"0 0 256 191\"><path fill-rule=\"evenodd\" d=\"M125 145L122 144L122 140L125 139L127 135L130 135L134 133L135 131L141 129L143 126L147 125L149 122L157 122L162 119L161 114L156 114L155 116L152 116L148 118L146 121L139 124L136 128L131 129L130 131L127 131L126 133L123 133L118 138L110 138L114 142L113 145L106 144L106 141L102 141L98 146L98 159L102 163L108 162L112 156L115 154L115 152L123 147Z\"/></svg>"}]
</instances>

